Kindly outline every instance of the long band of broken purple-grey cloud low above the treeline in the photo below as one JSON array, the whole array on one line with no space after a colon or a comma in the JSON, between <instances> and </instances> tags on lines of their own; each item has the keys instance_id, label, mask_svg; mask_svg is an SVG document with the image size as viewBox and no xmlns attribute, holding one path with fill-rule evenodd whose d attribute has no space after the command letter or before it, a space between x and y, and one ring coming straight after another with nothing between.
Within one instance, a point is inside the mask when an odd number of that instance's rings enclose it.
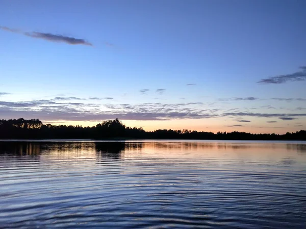
<instances>
[{"instance_id":1,"label":"long band of broken purple-grey cloud low above the treeline","mask_svg":"<svg viewBox=\"0 0 306 229\"><path fill-rule=\"evenodd\" d=\"M121 120L207 119L218 116L212 110L189 107L200 103L90 104L73 103L69 100L59 101L0 101L0 113L4 119L35 117L53 121L101 121L114 118Z\"/></svg>"}]
</instances>

